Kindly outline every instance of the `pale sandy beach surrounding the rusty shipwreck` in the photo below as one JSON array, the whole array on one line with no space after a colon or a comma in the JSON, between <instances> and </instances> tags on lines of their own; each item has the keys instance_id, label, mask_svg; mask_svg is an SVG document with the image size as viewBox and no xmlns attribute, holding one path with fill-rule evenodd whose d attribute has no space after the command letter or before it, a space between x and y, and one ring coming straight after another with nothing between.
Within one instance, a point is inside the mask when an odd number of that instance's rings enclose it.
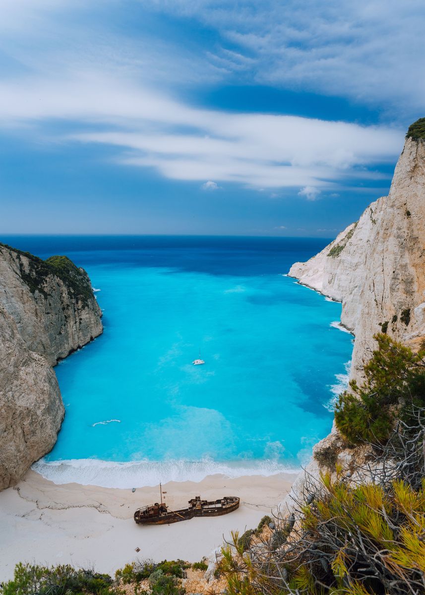
<instances>
[{"instance_id":1,"label":"pale sandy beach surrounding the rusty shipwreck","mask_svg":"<svg viewBox=\"0 0 425 595\"><path fill-rule=\"evenodd\" d=\"M283 500L292 474L228 478L210 475L199 483L170 482L167 505L183 508L189 498L239 496L237 511L225 516L143 527L136 508L159 499L159 486L120 490L80 484L57 485L34 471L0 493L0 580L12 578L17 562L70 563L114 574L136 559L201 560L230 537L255 528ZM139 547L140 552L135 549Z\"/></svg>"}]
</instances>

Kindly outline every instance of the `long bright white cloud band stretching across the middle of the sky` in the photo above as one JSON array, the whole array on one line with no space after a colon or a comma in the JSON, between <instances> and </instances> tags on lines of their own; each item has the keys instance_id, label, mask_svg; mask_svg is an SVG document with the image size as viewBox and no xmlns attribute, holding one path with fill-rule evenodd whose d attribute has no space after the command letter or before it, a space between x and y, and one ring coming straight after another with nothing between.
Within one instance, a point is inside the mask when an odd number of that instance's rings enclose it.
<instances>
[{"instance_id":1,"label":"long bright white cloud band stretching across the middle of the sky","mask_svg":"<svg viewBox=\"0 0 425 595\"><path fill-rule=\"evenodd\" d=\"M374 167L392 162L402 143L401 131L386 127L199 109L116 73L0 84L0 123L38 125L43 134L52 119L74 130L55 140L115 146L117 162L170 179L313 188L301 191L309 199L359 177L379 179Z\"/></svg>"}]
</instances>

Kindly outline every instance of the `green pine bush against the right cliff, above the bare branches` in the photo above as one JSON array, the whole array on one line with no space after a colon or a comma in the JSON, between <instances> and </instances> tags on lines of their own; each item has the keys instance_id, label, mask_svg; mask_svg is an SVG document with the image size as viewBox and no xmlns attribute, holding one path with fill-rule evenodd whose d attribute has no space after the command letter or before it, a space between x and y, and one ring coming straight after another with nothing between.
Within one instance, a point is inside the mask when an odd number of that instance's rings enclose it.
<instances>
[{"instance_id":1,"label":"green pine bush against the right cliff, above the bare branches","mask_svg":"<svg viewBox=\"0 0 425 595\"><path fill-rule=\"evenodd\" d=\"M383 333L374 339L378 349L364 367L364 383L351 381L335 409L336 427L352 444L385 443L406 405L425 404L425 351L414 354Z\"/></svg>"}]
</instances>

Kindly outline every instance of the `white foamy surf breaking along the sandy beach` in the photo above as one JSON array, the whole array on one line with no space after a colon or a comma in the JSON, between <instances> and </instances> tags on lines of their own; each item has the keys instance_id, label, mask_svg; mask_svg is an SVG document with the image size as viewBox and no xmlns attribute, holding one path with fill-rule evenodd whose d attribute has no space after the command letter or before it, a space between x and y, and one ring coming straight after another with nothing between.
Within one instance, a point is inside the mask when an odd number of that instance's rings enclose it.
<instances>
[{"instance_id":1,"label":"white foamy surf breaking along the sandy beach","mask_svg":"<svg viewBox=\"0 0 425 595\"><path fill-rule=\"evenodd\" d=\"M55 484L79 483L83 486L132 488L158 486L168 481L201 481L208 475L276 475L297 473L299 468L277 461L131 461L113 462L100 459L70 459L46 461L40 459L32 465L33 471Z\"/></svg>"}]
</instances>

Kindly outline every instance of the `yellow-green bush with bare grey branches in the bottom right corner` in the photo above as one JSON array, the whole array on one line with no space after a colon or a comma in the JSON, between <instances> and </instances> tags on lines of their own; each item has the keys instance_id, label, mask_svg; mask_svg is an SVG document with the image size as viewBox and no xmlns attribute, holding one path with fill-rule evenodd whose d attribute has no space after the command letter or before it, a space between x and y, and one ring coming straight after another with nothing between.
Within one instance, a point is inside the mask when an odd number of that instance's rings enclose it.
<instances>
[{"instance_id":1,"label":"yellow-green bush with bare grey branches in the bottom right corner","mask_svg":"<svg viewBox=\"0 0 425 595\"><path fill-rule=\"evenodd\" d=\"M300 512L292 540L272 555L246 552L233 535L220 562L229 595L424 593L424 478L418 490L401 480L385 489L326 474Z\"/></svg>"}]
</instances>

